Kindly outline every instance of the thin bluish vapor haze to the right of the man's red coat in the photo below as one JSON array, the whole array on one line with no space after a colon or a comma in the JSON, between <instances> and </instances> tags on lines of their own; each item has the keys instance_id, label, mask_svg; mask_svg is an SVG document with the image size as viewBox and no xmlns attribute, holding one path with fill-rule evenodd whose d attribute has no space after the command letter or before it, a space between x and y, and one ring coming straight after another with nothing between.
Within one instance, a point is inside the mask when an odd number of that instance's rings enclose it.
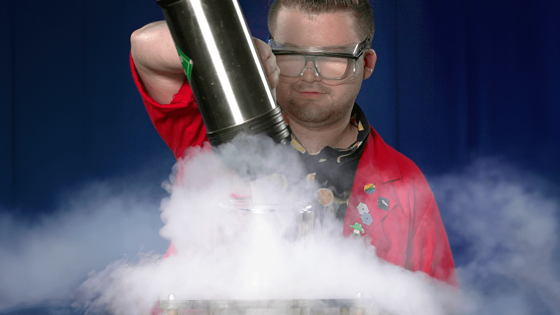
<instances>
[{"instance_id":1,"label":"thin bluish vapor haze to the right of the man's red coat","mask_svg":"<svg viewBox=\"0 0 560 315\"><path fill-rule=\"evenodd\" d=\"M560 314L557 188L491 158L430 184L451 243L463 244L466 313Z\"/></svg>"}]
</instances>

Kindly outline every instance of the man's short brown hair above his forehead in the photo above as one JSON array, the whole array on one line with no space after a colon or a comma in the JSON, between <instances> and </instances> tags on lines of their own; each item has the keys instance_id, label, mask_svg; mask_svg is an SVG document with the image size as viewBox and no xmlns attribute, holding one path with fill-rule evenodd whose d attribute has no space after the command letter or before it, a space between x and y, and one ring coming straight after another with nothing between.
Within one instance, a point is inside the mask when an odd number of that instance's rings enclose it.
<instances>
[{"instance_id":1,"label":"man's short brown hair above his forehead","mask_svg":"<svg viewBox=\"0 0 560 315\"><path fill-rule=\"evenodd\" d=\"M312 15L334 11L352 13L356 22L357 34L364 39L374 37L374 12L369 0L274 0L268 11L268 30L272 33L276 27L276 17L282 8L299 8L301 12Z\"/></svg>"}]
</instances>

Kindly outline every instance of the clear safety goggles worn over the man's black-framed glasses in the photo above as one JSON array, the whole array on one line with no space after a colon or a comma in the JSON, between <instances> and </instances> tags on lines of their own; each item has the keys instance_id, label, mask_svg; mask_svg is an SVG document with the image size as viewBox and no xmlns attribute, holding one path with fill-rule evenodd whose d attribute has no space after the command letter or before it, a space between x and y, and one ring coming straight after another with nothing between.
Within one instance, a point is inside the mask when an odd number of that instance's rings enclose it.
<instances>
[{"instance_id":1,"label":"clear safety goggles worn over the man's black-framed glasses","mask_svg":"<svg viewBox=\"0 0 560 315\"><path fill-rule=\"evenodd\" d=\"M360 44L341 47L302 47L278 43L269 35L268 45L276 55L281 81L296 82L310 68L325 84L338 85L356 76L358 58L369 40L368 37Z\"/></svg>"}]
</instances>

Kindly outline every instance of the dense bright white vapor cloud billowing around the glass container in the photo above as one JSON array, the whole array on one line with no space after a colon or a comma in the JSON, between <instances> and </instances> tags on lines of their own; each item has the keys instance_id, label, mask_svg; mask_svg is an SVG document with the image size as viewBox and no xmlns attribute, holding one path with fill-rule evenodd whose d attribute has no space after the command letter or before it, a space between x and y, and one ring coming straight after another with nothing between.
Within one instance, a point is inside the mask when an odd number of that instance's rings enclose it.
<instances>
[{"instance_id":1,"label":"dense bright white vapor cloud billowing around the glass container","mask_svg":"<svg viewBox=\"0 0 560 315\"><path fill-rule=\"evenodd\" d=\"M250 174L294 175L297 161L282 163L294 150L263 151L272 140L255 141L243 138L236 143L246 151L220 150L226 154L222 159L209 150L188 151L179 161L178 178L171 179L176 183L170 187L171 196L162 203L166 225L160 234L174 240L178 254L164 261L147 258L137 265L112 265L91 277L81 287L86 300L94 299L88 312L146 314L169 294L179 300L354 299L360 294L374 302L374 310L393 314L456 311L454 289L380 260L366 238L342 237L339 222L316 222L312 233L293 239L284 235L295 222L282 214L222 209L220 201L232 193L243 194L246 187L223 160L235 160L236 165L243 161L248 169L256 165L258 170ZM289 175L287 181L297 183ZM290 193L295 193L300 200L299 192L305 190L296 186L273 199L291 202Z\"/></svg>"}]
</instances>

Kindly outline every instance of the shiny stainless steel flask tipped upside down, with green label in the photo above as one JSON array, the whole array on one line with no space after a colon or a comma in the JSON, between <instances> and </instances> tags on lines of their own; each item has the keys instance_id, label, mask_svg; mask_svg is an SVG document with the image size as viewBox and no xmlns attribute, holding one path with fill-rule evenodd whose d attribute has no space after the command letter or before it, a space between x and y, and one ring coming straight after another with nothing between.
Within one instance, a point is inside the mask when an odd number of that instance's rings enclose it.
<instances>
[{"instance_id":1,"label":"shiny stainless steel flask tipped upside down, with green label","mask_svg":"<svg viewBox=\"0 0 560 315\"><path fill-rule=\"evenodd\" d=\"M273 99L237 0L157 0L183 61L211 145L239 133L284 142Z\"/></svg>"}]
</instances>

